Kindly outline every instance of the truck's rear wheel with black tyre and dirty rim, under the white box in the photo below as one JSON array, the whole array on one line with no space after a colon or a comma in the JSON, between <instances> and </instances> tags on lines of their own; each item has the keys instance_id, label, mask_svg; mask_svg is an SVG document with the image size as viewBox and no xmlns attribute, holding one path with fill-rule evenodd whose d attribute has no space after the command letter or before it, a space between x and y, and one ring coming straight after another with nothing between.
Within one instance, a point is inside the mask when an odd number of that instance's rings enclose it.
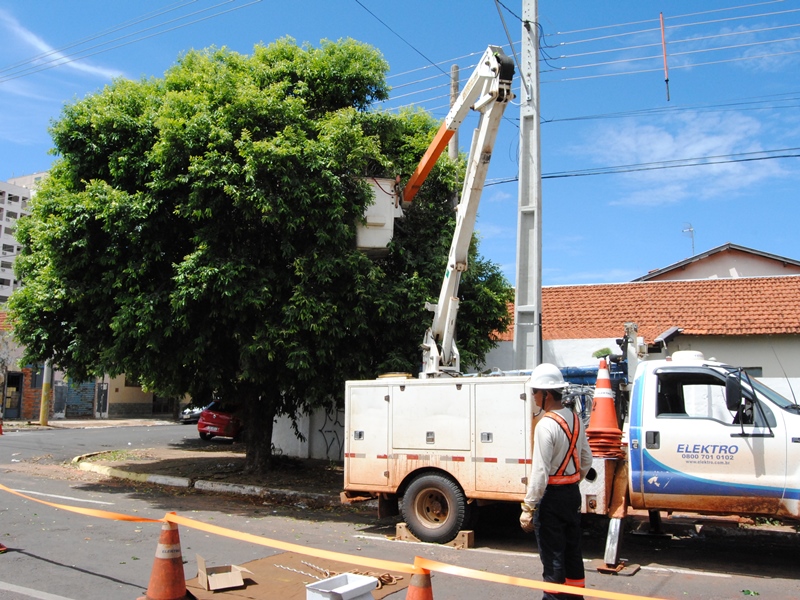
<instances>
[{"instance_id":1,"label":"truck's rear wheel with black tyre and dirty rim, under the white box","mask_svg":"<svg viewBox=\"0 0 800 600\"><path fill-rule=\"evenodd\" d=\"M459 485L444 475L420 475L403 494L400 509L411 533L423 542L444 544L458 535L469 507Z\"/></svg>"}]
</instances>

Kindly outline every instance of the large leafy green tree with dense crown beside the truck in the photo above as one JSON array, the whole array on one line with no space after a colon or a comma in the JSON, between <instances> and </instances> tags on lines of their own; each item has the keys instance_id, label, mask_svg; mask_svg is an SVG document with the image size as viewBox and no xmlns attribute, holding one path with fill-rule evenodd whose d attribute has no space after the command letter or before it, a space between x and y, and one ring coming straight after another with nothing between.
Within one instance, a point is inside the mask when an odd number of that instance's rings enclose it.
<instances>
[{"instance_id":1,"label":"large leafy green tree with dense crown beside the truck","mask_svg":"<svg viewBox=\"0 0 800 600\"><path fill-rule=\"evenodd\" d=\"M356 249L362 176L407 178L438 125L367 112L387 68L353 40L283 39L192 51L162 79L68 105L18 230L25 359L239 403L253 470L269 467L276 416L341 402L348 378L416 372L464 166L439 161L385 258ZM477 362L510 289L475 266L459 343Z\"/></svg>"}]
</instances>

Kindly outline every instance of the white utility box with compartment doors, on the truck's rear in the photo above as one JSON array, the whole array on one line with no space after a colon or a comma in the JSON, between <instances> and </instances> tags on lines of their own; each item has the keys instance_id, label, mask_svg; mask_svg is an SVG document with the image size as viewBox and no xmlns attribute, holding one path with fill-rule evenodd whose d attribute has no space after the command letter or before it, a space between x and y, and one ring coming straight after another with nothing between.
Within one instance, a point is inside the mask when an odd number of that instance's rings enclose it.
<instances>
[{"instance_id":1,"label":"white utility box with compartment doors, on the truck's rear","mask_svg":"<svg viewBox=\"0 0 800 600\"><path fill-rule=\"evenodd\" d=\"M531 459L528 377L348 381L345 490L394 494L449 474L471 499L521 500Z\"/></svg>"}]
</instances>

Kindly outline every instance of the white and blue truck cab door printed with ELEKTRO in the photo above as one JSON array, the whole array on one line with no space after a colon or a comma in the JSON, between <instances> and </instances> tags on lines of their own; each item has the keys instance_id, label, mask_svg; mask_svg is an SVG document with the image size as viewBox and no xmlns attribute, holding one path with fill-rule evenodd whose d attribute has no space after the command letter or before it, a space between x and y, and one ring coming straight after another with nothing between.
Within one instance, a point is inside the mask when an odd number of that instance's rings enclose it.
<instances>
[{"instance_id":1,"label":"white and blue truck cab door printed with ELEKTRO","mask_svg":"<svg viewBox=\"0 0 800 600\"><path fill-rule=\"evenodd\" d=\"M645 507L775 513L786 482L783 416L752 396L744 411L728 410L725 377L712 369L655 375L655 402L645 393L638 440Z\"/></svg>"}]
</instances>

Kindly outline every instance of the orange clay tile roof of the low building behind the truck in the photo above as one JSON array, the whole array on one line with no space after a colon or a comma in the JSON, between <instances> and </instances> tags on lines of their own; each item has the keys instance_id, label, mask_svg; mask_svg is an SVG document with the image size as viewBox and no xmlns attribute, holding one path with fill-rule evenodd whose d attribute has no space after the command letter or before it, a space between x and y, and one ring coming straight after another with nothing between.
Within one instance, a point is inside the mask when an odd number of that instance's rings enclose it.
<instances>
[{"instance_id":1,"label":"orange clay tile roof of the low building behind the truck","mask_svg":"<svg viewBox=\"0 0 800 600\"><path fill-rule=\"evenodd\" d=\"M626 322L648 343L670 327L684 335L800 334L800 276L542 289L545 340L621 337ZM499 339L513 340L513 328Z\"/></svg>"}]
</instances>

